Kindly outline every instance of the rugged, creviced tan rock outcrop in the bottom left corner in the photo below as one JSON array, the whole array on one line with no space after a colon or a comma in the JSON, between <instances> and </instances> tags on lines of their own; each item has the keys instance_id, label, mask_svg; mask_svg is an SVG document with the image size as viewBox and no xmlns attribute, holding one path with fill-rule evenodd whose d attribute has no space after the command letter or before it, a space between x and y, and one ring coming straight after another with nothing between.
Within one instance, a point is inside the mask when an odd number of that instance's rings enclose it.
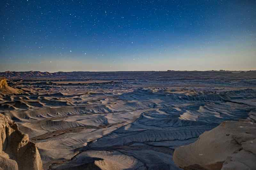
<instances>
[{"instance_id":1,"label":"rugged, creviced tan rock outcrop in the bottom left corner","mask_svg":"<svg viewBox=\"0 0 256 170\"><path fill-rule=\"evenodd\" d=\"M0 114L0 170L43 170L36 144L9 117Z\"/></svg>"}]
</instances>

